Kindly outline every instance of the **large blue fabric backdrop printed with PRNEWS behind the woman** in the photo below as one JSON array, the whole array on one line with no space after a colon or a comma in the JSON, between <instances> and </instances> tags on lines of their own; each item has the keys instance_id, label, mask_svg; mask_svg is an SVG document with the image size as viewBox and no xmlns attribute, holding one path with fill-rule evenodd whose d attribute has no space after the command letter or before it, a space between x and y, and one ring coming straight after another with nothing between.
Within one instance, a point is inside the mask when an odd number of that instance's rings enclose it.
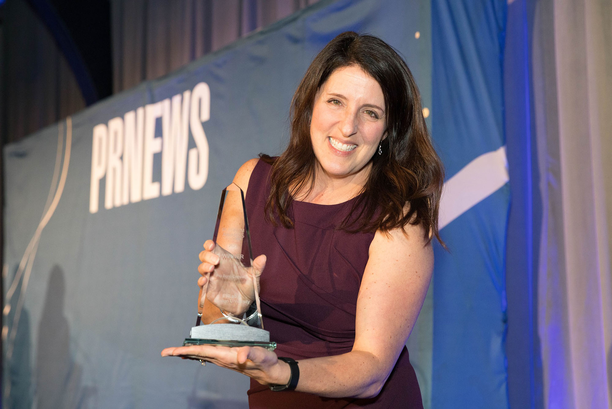
<instances>
[{"instance_id":1,"label":"large blue fabric backdrop printed with PRNEWS behind the woman","mask_svg":"<svg viewBox=\"0 0 612 409\"><path fill-rule=\"evenodd\" d=\"M449 179L504 155L505 14L499 0L321 1L7 146L4 404L244 407L246 377L160 357L193 325L221 189L259 152L282 152L297 83L346 30L405 56ZM436 249L408 342L426 407L507 406L509 188L472 197L483 173L447 195L447 209L469 205L448 212L450 253Z\"/></svg>"}]
</instances>

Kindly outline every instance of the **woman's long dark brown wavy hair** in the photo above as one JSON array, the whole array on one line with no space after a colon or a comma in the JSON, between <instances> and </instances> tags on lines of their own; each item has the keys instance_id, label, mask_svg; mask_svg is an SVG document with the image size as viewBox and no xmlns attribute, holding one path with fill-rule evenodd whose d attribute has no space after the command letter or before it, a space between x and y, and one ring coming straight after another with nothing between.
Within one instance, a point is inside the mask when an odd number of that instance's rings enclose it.
<instances>
[{"instance_id":1,"label":"woman's long dark brown wavy hair","mask_svg":"<svg viewBox=\"0 0 612 409\"><path fill-rule=\"evenodd\" d=\"M310 139L315 95L335 70L359 66L383 89L387 138L383 154L374 154L362 194L340 228L347 231L389 231L407 223L422 224L427 242L438 233L438 209L444 168L431 144L423 118L419 89L406 62L386 42L348 31L331 40L315 57L291 102L291 136L285 152L273 159L266 216L293 227L288 214L293 196L312 189L316 157ZM406 204L409 203L408 211Z\"/></svg>"}]
</instances>

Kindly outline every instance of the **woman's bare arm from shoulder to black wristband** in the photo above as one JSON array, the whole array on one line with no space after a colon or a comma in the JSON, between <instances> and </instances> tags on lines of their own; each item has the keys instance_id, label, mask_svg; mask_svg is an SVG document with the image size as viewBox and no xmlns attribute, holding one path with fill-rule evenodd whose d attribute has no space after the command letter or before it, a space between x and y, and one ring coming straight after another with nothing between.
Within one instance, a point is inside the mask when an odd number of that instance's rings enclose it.
<instances>
[{"instance_id":1,"label":"woman's bare arm from shoulder to black wristband","mask_svg":"<svg viewBox=\"0 0 612 409\"><path fill-rule=\"evenodd\" d=\"M425 245L422 227L377 232L357 298L353 350L299 361L296 390L327 397L376 396L412 331L432 272L433 250Z\"/></svg>"}]
</instances>

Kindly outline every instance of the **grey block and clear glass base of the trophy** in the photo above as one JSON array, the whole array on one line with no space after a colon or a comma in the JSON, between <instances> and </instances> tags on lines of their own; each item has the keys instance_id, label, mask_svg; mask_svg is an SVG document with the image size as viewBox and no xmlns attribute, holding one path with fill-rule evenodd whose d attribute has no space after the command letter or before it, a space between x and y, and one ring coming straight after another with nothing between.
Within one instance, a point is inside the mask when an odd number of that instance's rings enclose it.
<instances>
[{"instance_id":1,"label":"grey block and clear glass base of the trophy","mask_svg":"<svg viewBox=\"0 0 612 409\"><path fill-rule=\"evenodd\" d=\"M223 345L224 347L262 347L273 351L270 332L246 325L209 324L195 326L183 345Z\"/></svg>"}]
</instances>

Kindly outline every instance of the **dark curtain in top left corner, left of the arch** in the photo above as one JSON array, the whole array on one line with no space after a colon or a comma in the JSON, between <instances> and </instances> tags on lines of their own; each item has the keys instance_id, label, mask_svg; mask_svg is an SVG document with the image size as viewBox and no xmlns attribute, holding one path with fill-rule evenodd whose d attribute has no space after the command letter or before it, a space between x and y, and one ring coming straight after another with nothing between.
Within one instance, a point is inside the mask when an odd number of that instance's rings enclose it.
<instances>
[{"instance_id":1,"label":"dark curtain in top left corner, left of the arch","mask_svg":"<svg viewBox=\"0 0 612 409\"><path fill-rule=\"evenodd\" d=\"M0 140L17 141L85 108L75 75L45 24L24 0L2 5Z\"/></svg>"}]
</instances>

